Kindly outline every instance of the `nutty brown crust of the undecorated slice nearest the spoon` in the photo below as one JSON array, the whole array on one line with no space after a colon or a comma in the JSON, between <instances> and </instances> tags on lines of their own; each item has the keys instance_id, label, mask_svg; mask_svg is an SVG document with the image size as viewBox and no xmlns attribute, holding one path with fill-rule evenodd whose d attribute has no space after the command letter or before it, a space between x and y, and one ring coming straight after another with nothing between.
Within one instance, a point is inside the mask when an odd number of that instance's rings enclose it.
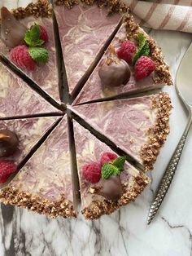
<instances>
[{"instance_id":1,"label":"nutty brown crust of the undecorated slice nearest the spoon","mask_svg":"<svg viewBox=\"0 0 192 256\"><path fill-rule=\"evenodd\" d=\"M152 170L160 148L163 146L169 133L169 116L172 105L167 93L160 93L159 98L154 95L151 108L157 108L155 126L148 130L148 142L142 147L141 157L145 170Z\"/></svg>"}]
</instances>

